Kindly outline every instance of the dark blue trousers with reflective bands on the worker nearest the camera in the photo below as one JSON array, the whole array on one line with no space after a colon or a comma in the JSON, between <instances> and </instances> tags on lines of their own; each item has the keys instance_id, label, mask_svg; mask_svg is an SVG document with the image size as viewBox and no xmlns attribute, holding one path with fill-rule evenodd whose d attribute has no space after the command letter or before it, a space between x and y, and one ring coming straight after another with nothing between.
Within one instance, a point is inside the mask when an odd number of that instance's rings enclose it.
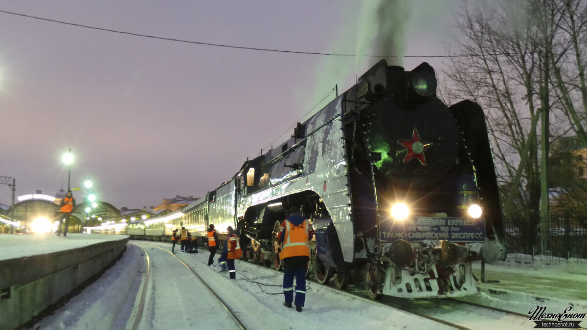
<instances>
[{"instance_id":1,"label":"dark blue trousers with reflective bands on the worker nearest the camera","mask_svg":"<svg viewBox=\"0 0 587 330\"><path fill-rule=\"evenodd\" d=\"M284 258L284 296L285 302L303 307L306 301L306 270L308 270L308 257ZM295 301L294 301L294 277L295 277Z\"/></svg>"}]
</instances>

